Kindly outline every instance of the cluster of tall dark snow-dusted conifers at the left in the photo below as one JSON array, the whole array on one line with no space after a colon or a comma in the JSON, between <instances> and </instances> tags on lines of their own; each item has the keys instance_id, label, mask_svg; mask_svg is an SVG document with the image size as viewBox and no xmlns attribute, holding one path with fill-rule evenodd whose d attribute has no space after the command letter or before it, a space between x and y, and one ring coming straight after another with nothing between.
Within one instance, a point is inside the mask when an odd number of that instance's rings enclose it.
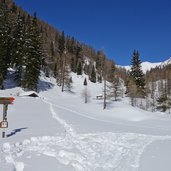
<instances>
[{"instance_id":1,"label":"cluster of tall dark snow-dusted conifers at the left","mask_svg":"<svg viewBox=\"0 0 171 171\"><path fill-rule=\"evenodd\" d=\"M0 88L8 68L16 71L15 81L26 90L36 90L43 60L41 35L34 17L22 15L15 4L0 1Z\"/></svg>"}]
</instances>

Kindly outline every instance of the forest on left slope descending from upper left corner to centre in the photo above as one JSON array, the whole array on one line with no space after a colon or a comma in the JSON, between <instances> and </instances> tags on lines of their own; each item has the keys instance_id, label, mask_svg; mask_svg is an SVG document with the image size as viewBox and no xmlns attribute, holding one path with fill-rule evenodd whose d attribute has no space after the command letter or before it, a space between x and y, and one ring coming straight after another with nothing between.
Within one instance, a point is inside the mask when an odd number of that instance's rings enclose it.
<instances>
[{"instance_id":1,"label":"forest on left slope descending from upper left corner to centre","mask_svg":"<svg viewBox=\"0 0 171 171\"><path fill-rule=\"evenodd\" d=\"M25 90L37 90L40 71L56 78L57 84L70 87L70 72L89 76L92 82L102 82L105 63L114 62L103 51L59 32L47 23L28 15L10 0L0 0L0 88L8 68L16 72L16 83Z\"/></svg>"}]
</instances>

